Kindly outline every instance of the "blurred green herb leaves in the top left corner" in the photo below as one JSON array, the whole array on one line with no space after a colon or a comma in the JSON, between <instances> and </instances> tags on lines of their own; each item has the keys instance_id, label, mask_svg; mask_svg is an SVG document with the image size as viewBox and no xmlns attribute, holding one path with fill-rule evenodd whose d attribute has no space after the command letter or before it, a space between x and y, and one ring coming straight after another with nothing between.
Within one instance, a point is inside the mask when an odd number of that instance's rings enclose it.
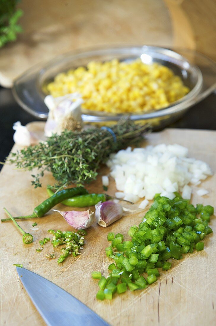
<instances>
[{"instance_id":1,"label":"blurred green herb leaves in the top left corner","mask_svg":"<svg viewBox=\"0 0 216 326\"><path fill-rule=\"evenodd\" d=\"M22 16L21 9L16 9L18 0L0 0L0 48L7 42L15 41L22 27L17 24Z\"/></svg>"}]
</instances>

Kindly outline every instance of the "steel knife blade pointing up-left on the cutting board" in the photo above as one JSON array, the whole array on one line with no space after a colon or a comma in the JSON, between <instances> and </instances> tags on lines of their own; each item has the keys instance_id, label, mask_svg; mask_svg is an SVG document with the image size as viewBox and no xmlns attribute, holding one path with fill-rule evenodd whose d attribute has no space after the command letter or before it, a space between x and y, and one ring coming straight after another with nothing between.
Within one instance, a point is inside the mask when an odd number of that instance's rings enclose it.
<instances>
[{"instance_id":1,"label":"steel knife blade pointing up-left on the cutting board","mask_svg":"<svg viewBox=\"0 0 216 326\"><path fill-rule=\"evenodd\" d=\"M77 298L46 278L16 267L20 280L47 325L109 326Z\"/></svg>"}]
</instances>

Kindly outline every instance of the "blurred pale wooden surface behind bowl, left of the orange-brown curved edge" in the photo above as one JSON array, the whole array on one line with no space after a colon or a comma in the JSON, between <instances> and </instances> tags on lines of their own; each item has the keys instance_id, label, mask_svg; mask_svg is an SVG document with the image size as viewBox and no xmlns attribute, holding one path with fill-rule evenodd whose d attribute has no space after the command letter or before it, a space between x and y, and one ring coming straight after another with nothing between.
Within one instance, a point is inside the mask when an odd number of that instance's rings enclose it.
<instances>
[{"instance_id":1,"label":"blurred pale wooden surface behind bowl, left of the orange-brown curved edge","mask_svg":"<svg viewBox=\"0 0 216 326\"><path fill-rule=\"evenodd\" d=\"M163 0L22 0L24 33L0 49L0 84L55 56L105 44L172 45Z\"/></svg>"}]
</instances>

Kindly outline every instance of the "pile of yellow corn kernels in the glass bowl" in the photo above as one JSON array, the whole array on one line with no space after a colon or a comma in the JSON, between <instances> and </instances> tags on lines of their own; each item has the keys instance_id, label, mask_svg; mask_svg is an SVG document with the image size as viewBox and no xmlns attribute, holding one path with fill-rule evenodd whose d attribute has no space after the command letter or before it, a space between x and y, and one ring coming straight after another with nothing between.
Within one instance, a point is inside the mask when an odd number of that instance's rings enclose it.
<instances>
[{"instance_id":1,"label":"pile of yellow corn kernels in the glass bowl","mask_svg":"<svg viewBox=\"0 0 216 326\"><path fill-rule=\"evenodd\" d=\"M83 109L111 113L158 110L189 92L171 69L140 59L92 61L87 68L58 74L47 89L54 97L77 92L84 100Z\"/></svg>"}]
</instances>

